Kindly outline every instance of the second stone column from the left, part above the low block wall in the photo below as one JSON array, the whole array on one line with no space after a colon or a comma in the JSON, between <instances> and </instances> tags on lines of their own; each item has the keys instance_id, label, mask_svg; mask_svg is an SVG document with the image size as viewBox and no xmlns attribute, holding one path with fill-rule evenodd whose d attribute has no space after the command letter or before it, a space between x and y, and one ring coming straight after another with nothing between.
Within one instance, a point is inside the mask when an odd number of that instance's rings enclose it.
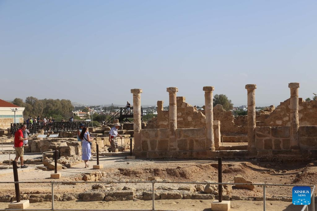
<instances>
[{"instance_id":1,"label":"second stone column from the left, part above the low block wall","mask_svg":"<svg viewBox=\"0 0 317 211\"><path fill-rule=\"evenodd\" d=\"M169 113L170 113L170 137L175 136L175 131L177 129L177 106L176 106L176 92L178 92L177 87L166 88L169 94Z\"/></svg>"}]
</instances>

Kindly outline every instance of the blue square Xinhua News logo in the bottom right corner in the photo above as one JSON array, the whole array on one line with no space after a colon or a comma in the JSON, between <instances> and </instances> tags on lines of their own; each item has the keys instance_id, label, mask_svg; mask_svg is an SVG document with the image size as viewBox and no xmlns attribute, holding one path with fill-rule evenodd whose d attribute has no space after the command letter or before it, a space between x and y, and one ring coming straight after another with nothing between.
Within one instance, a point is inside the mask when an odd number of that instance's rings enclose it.
<instances>
[{"instance_id":1,"label":"blue square Xinhua News logo in the bottom right corner","mask_svg":"<svg viewBox=\"0 0 317 211\"><path fill-rule=\"evenodd\" d=\"M292 200L294 205L309 205L310 202L310 187L296 186L292 189Z\"/></svg>"}]
</instances>

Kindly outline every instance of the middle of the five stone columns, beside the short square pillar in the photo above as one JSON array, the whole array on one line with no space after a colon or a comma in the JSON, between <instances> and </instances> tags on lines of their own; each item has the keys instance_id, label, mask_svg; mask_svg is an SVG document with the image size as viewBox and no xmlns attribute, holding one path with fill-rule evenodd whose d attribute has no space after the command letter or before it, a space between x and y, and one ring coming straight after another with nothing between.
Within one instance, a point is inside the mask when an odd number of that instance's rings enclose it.
<instances>
[{"instance_id":1,"label":"middle of the five stone columns, beside the short square pillar","mask_svg":"<svg viewBox=\"0 0 317 211\"><path fill-rule=\"evenodd\" d=\"M215 90L213 86L204 86L203 91L205 91L205 116L206 116L206 147L211 151L215 151L215 141L214 141L214 130L213 130L213 96L212 91Z\"/></svg>"}]
</instances>

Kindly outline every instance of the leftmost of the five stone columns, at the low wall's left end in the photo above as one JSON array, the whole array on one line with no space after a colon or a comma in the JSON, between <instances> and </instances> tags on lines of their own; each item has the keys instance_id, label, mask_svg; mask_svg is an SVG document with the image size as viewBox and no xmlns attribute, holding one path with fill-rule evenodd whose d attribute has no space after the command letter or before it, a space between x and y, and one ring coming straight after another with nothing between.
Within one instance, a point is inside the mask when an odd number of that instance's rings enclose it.
<instances>
[{"instance_id":1,"label":"leftmost of the five stone columns, at the low wall's left end","mask_svg":"<svg viewBox=\"0 0 317 211\"><path fill-rule=\"evenodd\" d=\"M141 89L132 89L134 151L141 151Z\"/></svg>"}]
</instances>

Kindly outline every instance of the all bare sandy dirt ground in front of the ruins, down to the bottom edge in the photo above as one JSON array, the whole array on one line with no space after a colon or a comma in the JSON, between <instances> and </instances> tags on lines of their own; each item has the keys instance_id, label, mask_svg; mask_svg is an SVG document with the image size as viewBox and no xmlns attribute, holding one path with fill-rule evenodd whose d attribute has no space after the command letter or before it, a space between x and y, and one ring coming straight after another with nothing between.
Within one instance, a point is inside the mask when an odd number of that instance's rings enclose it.
<instances>
[{"instance_id":1,"label":"all bare sandy dirt ground in front of the ruins, down to the bottom edge","mask_svg":"<svg viewBox=\"0 0 317 211\"><path fill-rule=\"evenodd\" d=\"M27 157L25 157L27 158ZM125 157L100 157L100 164L104 165L101 171L108 175L100 181L146 181L147 177L158 176L162 179L175 182L216 182L218 179L216 160L179 160L179 159L137 159L126 160ZM1 161L1 160L0 160ZM42 171L37 169L42 164L26 163L29 167L18 169L19 181L76 181L83 173L95 172L92 165L96 164L96 157L89 162L90 167L84 168L84 163L76 164L68 169L63 169L60 179L50 179L53 171ZM0 164L1 166L2 164ZM233 182L233 177L242 175L254 183L265 184L302 184L316 185L317 183L317 161L303 162L271 162L253 160L223 160L223 182ZM12 169L0 170L0 182L13 180ZM91 183L80 183L77 185L56 184L54 192L74 193L84 192L91 189ZM124 186L152 190L151 184L144 183L122 183L111 184L111 189L122 189ZM155 187L168 187L176 189L182 184L156 184ZM266 197L291 197L292 187L267 186ZM51 193L49 183L21 183L21 193ZM14 195L14 185L2 183L0 195ZM317 191L315 191L315 195ZM262 187L255 187L254 190L236 189L233 187L230 196L263 196ZM156 208L164 210L211 210L211 200L157 200ZM0 203L0 208L7 208L8 203ZM51 202L31 203L30 208L50 208ZM47 207L46 207L47 206ZM60 206L60 207L59 207ZM100 207L102 206L102 207ZM267 210L300 210L301 206L294 206L291 202L267 201ZM123 202L55 202L55 208L65 209L151 209L152 201L123 201ZM263 210L262 201L231 201L231 210Z\"/></svg>"}]
</instances>

